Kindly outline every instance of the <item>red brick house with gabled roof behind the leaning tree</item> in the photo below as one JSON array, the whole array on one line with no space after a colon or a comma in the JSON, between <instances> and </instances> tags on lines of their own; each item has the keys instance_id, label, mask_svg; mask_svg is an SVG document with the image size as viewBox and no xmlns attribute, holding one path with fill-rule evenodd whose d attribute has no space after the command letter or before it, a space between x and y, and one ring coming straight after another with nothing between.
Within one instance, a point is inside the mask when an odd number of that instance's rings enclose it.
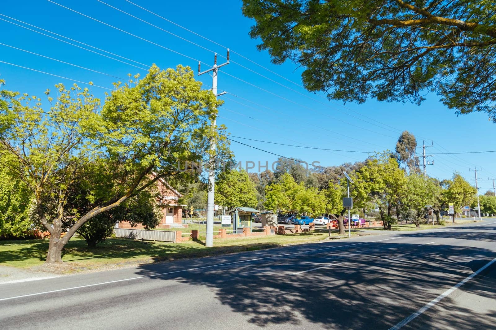
<instances>
[{"instance_id":1,"label":"red brick house with gabled roof behind the leaning tree","mask_svg":"<svg viewBox=\"0 0 496 330\"><path fill-rule=\"evenodd\" d=\"M162 220L160 220L160 223L156 228L182 226L183 207L186 207L187 205L180 205L178 200L183 197L183 195L164 179L157 180L157 188L159 193L157 204L162 213ZM127 221L120 221L117 224L117 227L143 229L141 224L131 227Z\"/></svg>"}]
</instances>

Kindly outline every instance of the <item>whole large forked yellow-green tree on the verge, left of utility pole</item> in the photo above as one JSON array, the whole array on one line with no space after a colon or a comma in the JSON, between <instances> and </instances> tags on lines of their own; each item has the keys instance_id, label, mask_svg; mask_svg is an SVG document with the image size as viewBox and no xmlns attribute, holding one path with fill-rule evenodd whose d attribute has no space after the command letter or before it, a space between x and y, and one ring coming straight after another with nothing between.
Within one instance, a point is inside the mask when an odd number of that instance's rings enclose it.
<instances>
[{"instance_id":1,"label":"whole large forked yellow-green tree on the verge, left of utility pole","mask_svg":"<svg viewBox=\"0 0 496 330\"><path fill-rule=\"evenodd\" d=\"M153 65L143 79L137 78L135 83L115 84L101 111L100 101L77 86L66 90L59 85L57 102L49 111L41 108L38 98L1 91L0 142L5 156L21 164L15 169L35 193L38 216L51 233L49 263L61 261L63 247L86 221L156 180L192 181L197 171L186 164L209 156L204 153L208 140L218 145L218 154L210 156L230 155L225 138L208 124L221 101L201 89L189 68L161 71ZM115 185L105 202L82 215L61 237L67 189L95 154L106 160ZM44 211L48 198L57 201L51 219Z\"/></svg>"}]
</instances>

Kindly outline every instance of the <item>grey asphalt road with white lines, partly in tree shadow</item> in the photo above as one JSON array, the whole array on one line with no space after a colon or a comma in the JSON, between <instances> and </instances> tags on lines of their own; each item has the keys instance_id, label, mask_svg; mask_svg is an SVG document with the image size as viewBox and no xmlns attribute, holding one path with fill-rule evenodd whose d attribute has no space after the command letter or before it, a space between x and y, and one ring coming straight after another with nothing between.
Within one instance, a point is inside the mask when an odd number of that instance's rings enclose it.
<instances>
[{"instance_id":1,"label":"grey asphalt road with white lines, partly in tree shadow","mask_svg":"<svg viewBox=\"0 0 496 330\"><path fill-rule=\"evenodd\" d=\"M2 284L0 329L496 329L495 242L485 220Z\"/></svg>"}]
</instances>

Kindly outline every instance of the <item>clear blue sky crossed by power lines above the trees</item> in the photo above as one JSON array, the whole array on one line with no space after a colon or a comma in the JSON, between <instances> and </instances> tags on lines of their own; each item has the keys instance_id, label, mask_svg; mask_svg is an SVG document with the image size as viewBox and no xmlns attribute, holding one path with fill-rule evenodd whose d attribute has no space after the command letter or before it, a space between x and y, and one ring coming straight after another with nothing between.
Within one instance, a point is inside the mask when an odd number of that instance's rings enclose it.
<instances>
[{"instance_id":1,"label":"clear blue sky crossed by power lines above the trees","mask_svg":"<svg viewBox=\"0 0 496 330\"><path fill-rule=\"evenodd\" d=\"M120 80L119 78L125 79L127 73L145 74L146 67L152 63L156 63L161 68L183 64L196 70L197 61L201 60L205 63L202 64L204 70L208 64L213 63L212 52L225 55L225 48L220 46L223 45L246 57L231 53L232 63L223 67L219 73L218 88L220 91L227 91L228 94L222 97L225 104L219 110L218 123L225 124L232 135L300 146L374 152L393 150L401 131L408 130L416 135L419 145L422 145L422 139L425 139L428 145L433 141L434 146L427 149L428 154L496 149L494 146L496 126L488 121L487 115L473 113L463 117L456 116L432 93L426 94L427 101L420 107L373 100L361 105L351 103L343 105L337 101L329 102L322 95L307 93L299 86L301 70L296 65L290 62L273 65L266 52L256 50L259 41L252 40L248 36L253 22L242 15L241 1L219 1L214 5L209 1L195 0L132 1L220 45L192 34L125 0L104 1L203 48L119 12L98 0L54 1L149 42L72 12L49 0L5 0L0 8L2 14L0 19L3 19L0 20L0 29L3 32L0 43L108 75L4 45L0 45L1 61L82 82L92 81L95 85L112 88L112 82ZM12 18L115 55L27 26ZM91 53L4 20L126 63ZM166 48L188 57L173 53ZM257 66L250 60L288 80ZM219 62L221 61L223 58L219 57ZM286 87L257 75L239 64ZM38 96L42 96L45 89L53 88L56 83L72 83L63 78L1 62L0 77L6 80L7 89ZM211 78L208 75L198 79L206 85L206 88L210 88ZM92 92L103 98L105 89L93 87ZM367 156L360 153L326 152L238 140L276 154L300 158L309 163L318 161L324 166L356 162ZM265 162L271 164L277 158L234 142L232 150L237 160L242 162L253 161L257 164L260 161L262 164ZM419 152L421 151L422 149L419 148ZM468 171L469 167L482 166L482 171L478 173L481 192L493 186L492 181L487 179L496 176L494 168L496 153L436 155L430 159L434 160L435 165L428 166L427 170L434 177L449 178L456 170L474 182L474 173Z\"/></svg>"}]
</instances>

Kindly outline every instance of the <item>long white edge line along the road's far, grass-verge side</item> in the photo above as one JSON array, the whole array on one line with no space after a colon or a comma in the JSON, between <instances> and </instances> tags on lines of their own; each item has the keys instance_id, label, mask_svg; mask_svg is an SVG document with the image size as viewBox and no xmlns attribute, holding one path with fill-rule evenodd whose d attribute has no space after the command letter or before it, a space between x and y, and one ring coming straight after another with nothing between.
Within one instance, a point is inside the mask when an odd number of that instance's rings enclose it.
<instances>
[{"instance_id":1,"label":"long white edge line along the road's far, grass-verge side","mask_svg":"<svg viewBox=\"0 0 496 330\"><path fill-rule=\"evenodd\" d=\"M496 221L492 222L492 223L496 223ZM492 223L484 223L484 224L492 224ZM453 229L449 229L449 230L443 230L443 231L435 231L435 232L451 231L451 230L455 230L455 229L457 229L457 228L453 228ZM285 257L285 256L302 254L302 253L309 253L309 252L315 252L315 251L332 250L332 249L338 249L338 248L354 246L354 245L388 241L388 240L398 239L398 238L405 238L405 237L408 238L411 236L417 236L417 235L428 234L428 233L431 233L431 231L425 232L425 233L420 233L420 234L408 235L408 236L398 236L398 237L380 239L380 240L375 240L375 241L370 241L370 242L359 242L359 243L353 243L353 244L347 244L347 245L341 245L341 246L331 246L331 247L322 248L322 249L313 249L313 250L308 250L308 251L300 251L300 252L293 252L293 253L285 253L285 254L281 254L281 255L267 256L267 257L262 257L262 258L240 260L240 261L235 261L235 262L231 262L231 263L222 263L222 264L214 264L214 265L203 266L203 267L195 267L195 268L189 268L189 269L174 271L174 272L166 272L166 273L153 274L153 275L143 275L143 276L118 279L118 280L114 280L114 281L106 281L106 282L93 283L93 284L87 284L87 285L79 285L79 286L73 286L73 287L57 289L57 290L50 290L50 291L44 291L44 292L37 292L37 293L30 293L30 294L24 294L24 295L19 295L19 296L7 297L7 298L0 298L0 301L6 301L6 300L11 300L11 299L17 299L17 298L32 297L32 296L38 296L38 295L43 295L43 294L55 293L55 292L69 291L69 290L81 289L81 288L85 288L85 287L92 287L92 286L98 286L98 285L104 285L104 284L119 283L119 282L124 282L124 281L131 281L131 280L135 280L135 279L140 279L140 278L152 278L152 277L157 277L157 276L162 276L162 275L170 275L170 274L177 274L177 273L182 273L182 272L190 272L190 271L196 271L196 270L212 268L212 267L241 264L241 263L245 263L245 262L249 262L249 261L257 261L257 260L263 260L263 259L269 259L269 258Z\"/></svg>"}]
</instances>

